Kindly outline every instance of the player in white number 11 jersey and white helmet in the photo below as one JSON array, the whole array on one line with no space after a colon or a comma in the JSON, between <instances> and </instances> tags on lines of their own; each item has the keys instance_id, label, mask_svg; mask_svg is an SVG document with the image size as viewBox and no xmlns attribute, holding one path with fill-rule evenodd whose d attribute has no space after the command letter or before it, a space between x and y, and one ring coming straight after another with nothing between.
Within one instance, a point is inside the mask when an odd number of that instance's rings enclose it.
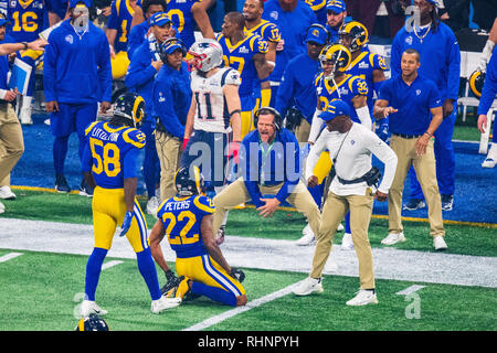
<instances>
[{"instance_id":1,"label":"player in white number 11 jersey and white helmet","mask_svg":"<svg viewBox=\"0 0 497 353\"><path fill-rule=\"evenodd\" d=\"M240 73L229 66L219 67L223 61L223 50L214 40L195 42L189 53L193 57L194 71L191 74L193 97L184 127L181 165L189 167L195 162L200 151L203 161L201 171L210 186L208 192L219 193L226 185L228 161L233 157L237 163L242 141ZM204 149L199 148L201 143L209 147L207 154L203 154ZM205 157L209 160L205 160ZM226 218L216 238L224 237Z\"/></svg>"}]
</instances>

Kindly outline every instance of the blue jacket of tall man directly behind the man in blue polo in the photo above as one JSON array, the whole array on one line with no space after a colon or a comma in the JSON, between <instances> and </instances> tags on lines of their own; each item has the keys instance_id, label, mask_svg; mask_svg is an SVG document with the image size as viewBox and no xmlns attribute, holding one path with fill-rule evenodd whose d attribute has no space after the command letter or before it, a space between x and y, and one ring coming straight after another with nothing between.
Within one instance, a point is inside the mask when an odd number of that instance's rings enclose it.
<instances>
[{"instance_id":1,"label":"blue jacket of tall man directly behind the man in blue polo","mask_svg":"<svg viewBox=\"0 0 497 353\"><path fill-rule=\"evenodd\" d=\"M419 33L424 35L426 31ZM423 38L423 42L402 28L393 39L391 69L392 77L401 74L402 53L413 47L420 52L421 66L417 73L432 79L440 90L442 100L457 100L461 77L461 51L454 32L445 23L440 23L436 33L433 29Z\"/></svg>"}]
</instances>

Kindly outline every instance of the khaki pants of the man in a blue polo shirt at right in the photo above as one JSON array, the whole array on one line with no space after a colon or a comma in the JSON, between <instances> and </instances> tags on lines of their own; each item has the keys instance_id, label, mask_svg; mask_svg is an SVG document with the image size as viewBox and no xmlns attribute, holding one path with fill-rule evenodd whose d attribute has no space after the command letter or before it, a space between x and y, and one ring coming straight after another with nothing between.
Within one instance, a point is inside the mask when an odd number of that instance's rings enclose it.
<instances>
[{"instance_id":1,"label":"khaki pants of the man in a blue polo shirt at right","mask_svg":"<svg viewBox=\"0 0 497 353\"><path fill-rule=\"evenodd\" d=\"M426 153L416 156L415 143L417 139L404 139L392 136L390 147L398 157L395 176L389 192L389 233L401 233L402 227L402 191L404 189L405 176L411 164L416 172L417 181L423 190L429 208L430 234L444 236L444 222L442 218L442 201L436 181L435 153L433 151L433 140L429 142Z\"/></svg>"}]
</instances>

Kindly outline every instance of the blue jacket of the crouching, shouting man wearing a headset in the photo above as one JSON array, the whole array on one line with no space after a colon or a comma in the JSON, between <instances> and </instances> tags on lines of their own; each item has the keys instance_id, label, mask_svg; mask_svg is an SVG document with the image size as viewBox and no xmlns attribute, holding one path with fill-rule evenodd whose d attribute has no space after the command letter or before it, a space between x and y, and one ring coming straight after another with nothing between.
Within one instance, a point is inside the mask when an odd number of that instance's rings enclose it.
<instances>
[{"instance_id":1,"label":"blue jacket of the crouching, shouting man wearing a headset","mask_svg":"<svg viewBox=\"0 0 497 353\"><path fill-rule=\"evenodd\" d=\"M283 202L293 192L300 179L300 150L290 131L282 128L268 146L261 142L258 130L245 136L240 148L239 165L245 188L256 207L264 202L260 184L267 186L283 183L276 199Z\"/></svg>"}]
</instances>

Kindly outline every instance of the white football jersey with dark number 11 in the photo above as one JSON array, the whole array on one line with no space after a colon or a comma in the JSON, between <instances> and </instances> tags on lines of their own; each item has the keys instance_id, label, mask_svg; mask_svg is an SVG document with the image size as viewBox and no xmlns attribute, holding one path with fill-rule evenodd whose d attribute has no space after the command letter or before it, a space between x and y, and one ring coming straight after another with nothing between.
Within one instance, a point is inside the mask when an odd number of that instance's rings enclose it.
<instances>
[{"instance_id":1,"label":"white football jersey with dark number 11","mask_svg":"<svg viewBox=\"0 0 497 353\"><path fill-rule=\"evenodd\" d=\"M240 86L240 73L232 67L220 67L210 77L194 71L191 74L191 90L197 101L193 129L209 132L231 132L230 113L223 95L224 85Z\"/></svg>"}]
</instances>

